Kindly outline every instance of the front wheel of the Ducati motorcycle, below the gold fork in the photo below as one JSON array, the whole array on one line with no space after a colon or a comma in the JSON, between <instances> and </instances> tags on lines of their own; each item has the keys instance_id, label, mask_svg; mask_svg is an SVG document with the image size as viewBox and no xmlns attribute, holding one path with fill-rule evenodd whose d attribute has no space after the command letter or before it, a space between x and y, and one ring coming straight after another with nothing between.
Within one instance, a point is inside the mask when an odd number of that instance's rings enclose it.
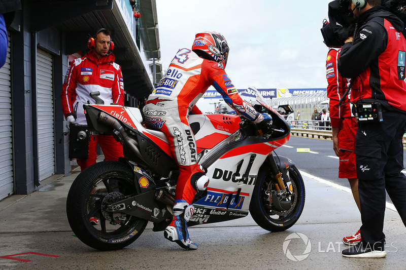
<instances>
[{"instance_id":1,"label":"front wheel of the Ducati motorcycle, below the gold fork","mask_svg":"<svg viewBox=\"0 0 406 270\"><path fill-rule=\"evenodd\" d=\"M303 179L295 166L289 168L288 175L289 179L285 179L284 182L289 191L280 198L285 205L289 203L289 207L282 210L275 206L271 198L273 193L280 192L275 188L275 179L265 171L258 174L250 203L250 213L259 226L270 232L281 232L290 228L303 211L306 197Z\"/></svg>"}]
</instances>

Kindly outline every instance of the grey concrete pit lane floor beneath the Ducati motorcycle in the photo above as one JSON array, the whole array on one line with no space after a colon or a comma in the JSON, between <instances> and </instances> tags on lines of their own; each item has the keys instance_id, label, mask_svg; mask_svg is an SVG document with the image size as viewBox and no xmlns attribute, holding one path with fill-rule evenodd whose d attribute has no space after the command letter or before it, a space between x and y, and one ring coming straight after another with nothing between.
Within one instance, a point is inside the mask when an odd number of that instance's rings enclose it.
<instances>
[{"instance_id":1,"label":"grey concrete pit lane floor beneath the Ducati motorcycle","mask_svg":"<svg viewBox=\"0 0 406 270\"><path fill-rule=\"evenodd\" d=\"M250 216L199 225L189 229L199 248L186 251L165 240L162 232L152 232L149 224L125 249L97 251L73 235L66 218L66 195L78 173L55 176L28 196L14 195L0 202L0 269L406 268L405 227L398 214L389 209L384 227L387 257L342 257L340 252L347 247L342 238L361 225L358 209L352 195L309 177L303 177L303 213L284 232L269 233ZM296 238L289 241L288 236Z\"/></svg>"}]
</instances>

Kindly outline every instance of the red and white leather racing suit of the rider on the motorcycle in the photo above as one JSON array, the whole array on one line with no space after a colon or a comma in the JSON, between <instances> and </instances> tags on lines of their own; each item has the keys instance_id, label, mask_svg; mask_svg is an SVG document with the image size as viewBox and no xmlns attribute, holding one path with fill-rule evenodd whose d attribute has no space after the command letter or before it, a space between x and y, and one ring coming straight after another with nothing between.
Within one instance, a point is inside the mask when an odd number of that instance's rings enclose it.
<instances>
[{"instance_id":1,"label":"red and white leather racing suit of the rider on the motorcycle","mask_svg":"<svg viewBox=\"0 0 406 270\"><path fill-rule=\"evenodd\" d=\"M189 204L197 191L195 182L204 172L197 165L196 141L188 114L201 113L194 105L210 86L214 86L236 112L254 123L263 120L262 114L241 98L219 63L200 58L186 48L178 51L144 107L150 126L165 133L178 163L180 174L175 200Z\"/></svg>"}]
</instances>

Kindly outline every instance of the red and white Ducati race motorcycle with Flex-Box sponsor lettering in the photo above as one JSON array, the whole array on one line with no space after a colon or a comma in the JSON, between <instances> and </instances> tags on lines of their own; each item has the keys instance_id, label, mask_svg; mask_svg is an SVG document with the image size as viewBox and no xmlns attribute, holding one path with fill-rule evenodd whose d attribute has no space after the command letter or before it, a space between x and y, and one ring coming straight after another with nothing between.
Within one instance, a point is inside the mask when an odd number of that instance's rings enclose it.
<instances>
[{"instance_id":1,"label":"red and white Ducati race motorcycle with Flex-Box sponsor lettering","mask_svg":"<svg viewBox=\"0 0 406 270\"><path fill-rule=\"evenodd\" d=\"M237 115L189 115L196 159L210 181L194 198L188 226L251 213L259 226L279 232L300 217L303 179L290 159L273 153L288 142L289 124L256 94L254 108L273 118L265 131ZM136 241L149 221L155 232L163 231L172 220L179 174L164 133L145 128L138 108L86 104L84 109L89 130L113 134L124 158L98 162L77 176L66 203L73 232L92 248L116 250Z\"/></svg>"}]
</instances>

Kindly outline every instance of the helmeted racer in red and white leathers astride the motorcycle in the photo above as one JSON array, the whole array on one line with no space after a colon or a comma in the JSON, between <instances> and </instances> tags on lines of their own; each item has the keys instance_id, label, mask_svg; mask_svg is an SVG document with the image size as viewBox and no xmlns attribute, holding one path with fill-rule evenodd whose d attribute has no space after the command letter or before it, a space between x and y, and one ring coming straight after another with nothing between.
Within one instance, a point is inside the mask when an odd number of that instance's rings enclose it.
<instances>
[{"instance_id":1,"label":"helmeted racer in red and white leathers astride the motorcycle","mask_svg":"<svg viewBox=\"0 0 406 270\"><path fill-rule=\"evenodd\" d=\"M191 50L183 48L175 55L143 109L150 127L165 133L179 167L173 220L164 236L185 249L197 249L190 240L187 222L195 211L191 204L196 192L205 190L209 182L197 164L196 141L188 123L189 113L201 114L195 106L197 100L213 86L229 106L252 122L265 125L272 121L239 95L224 71L228 52L223 35L212 31L197 33Z\"/></svg>"}]
</instances>

